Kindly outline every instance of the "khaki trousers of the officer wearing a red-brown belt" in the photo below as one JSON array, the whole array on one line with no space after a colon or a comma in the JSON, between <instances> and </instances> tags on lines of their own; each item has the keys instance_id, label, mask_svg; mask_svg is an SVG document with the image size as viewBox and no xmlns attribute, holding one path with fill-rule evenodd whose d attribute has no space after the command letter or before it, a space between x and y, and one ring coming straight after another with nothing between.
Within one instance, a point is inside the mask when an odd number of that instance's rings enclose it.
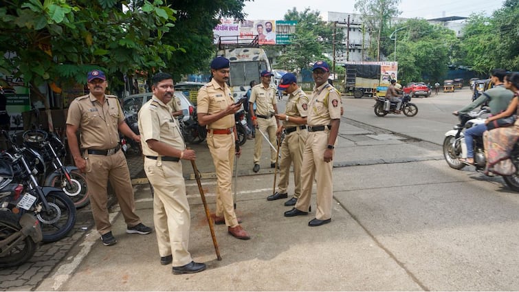
<instances>
[{"instance_id":1,"label":"khaki trousers of the officer wearing a red-brown belt","mask_svg":"<svg viewBox=\"0 0 519 292\"><path fill-rule=\"evenodd\" d=\"M256 135L257 136L257 135ZM225 218L225 225L238 225L232 199L232 168L234 167L234 133L230 135L208 133L207 144L217 172L216 215Z\"/></svg>"}]
</instances>

